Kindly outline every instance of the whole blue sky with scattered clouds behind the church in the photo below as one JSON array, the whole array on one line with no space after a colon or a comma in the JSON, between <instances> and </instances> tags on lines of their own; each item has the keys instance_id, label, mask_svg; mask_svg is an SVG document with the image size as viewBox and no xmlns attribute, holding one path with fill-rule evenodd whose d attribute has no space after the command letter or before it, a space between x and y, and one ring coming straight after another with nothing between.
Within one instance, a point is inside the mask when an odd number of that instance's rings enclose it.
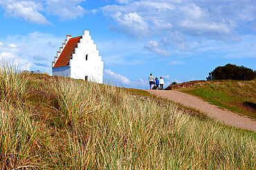
<instances>
[{"instance_id":1,"label":"whole blue sky with scattered clouds behind the church","mask_svg":"<svg viewBox=\"0 0 256 170\"><path fill-rule=\"evenodd\" d=\"M256 70L255 0L1 0L0 56L51 75L67 34L89 30L104 79L148 89L205 80L232 63Z\"/></svg>"}]
</instances>

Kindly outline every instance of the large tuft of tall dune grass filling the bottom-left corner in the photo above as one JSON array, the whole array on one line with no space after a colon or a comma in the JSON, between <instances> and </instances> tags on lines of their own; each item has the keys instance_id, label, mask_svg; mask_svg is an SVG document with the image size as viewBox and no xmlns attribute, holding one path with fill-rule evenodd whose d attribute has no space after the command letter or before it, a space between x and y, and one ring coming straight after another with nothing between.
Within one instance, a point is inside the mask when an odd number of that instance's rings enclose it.
<instances>
[{"instance_id":1,"label":"large tuft of tall dune grass filling the bottom-left corner","mask_svg":"<svg viewBox=\"0 0 256 170\"><path fill-rule=\"evenodd\" d=\"M0 107L0 168L33 168L42 164L41 142L45 140L39 122L31 120L31 112L21 106L15 108L1 100Z\"/></svg>"}]
</instances>

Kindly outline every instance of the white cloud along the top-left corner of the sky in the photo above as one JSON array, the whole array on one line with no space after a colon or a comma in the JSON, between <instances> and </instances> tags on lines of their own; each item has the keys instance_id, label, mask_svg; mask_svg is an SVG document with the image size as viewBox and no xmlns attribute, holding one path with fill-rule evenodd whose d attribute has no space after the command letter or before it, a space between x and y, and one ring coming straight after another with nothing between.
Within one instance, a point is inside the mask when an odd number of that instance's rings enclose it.
<instances>
[{"instance_id":1,"label":"white cloud along the top-left corner of the sky","mask_svg":"<svg viewBox=\"0 0 256 170\"><path fill-rule=\"evenodd\" d=\"M24 19L30 23L49 24L45 14L60 17L60 20L83 17L84 8L80 3L85 0L6 0L0 6L6 15Z\"/></svg>"}]
</instances>

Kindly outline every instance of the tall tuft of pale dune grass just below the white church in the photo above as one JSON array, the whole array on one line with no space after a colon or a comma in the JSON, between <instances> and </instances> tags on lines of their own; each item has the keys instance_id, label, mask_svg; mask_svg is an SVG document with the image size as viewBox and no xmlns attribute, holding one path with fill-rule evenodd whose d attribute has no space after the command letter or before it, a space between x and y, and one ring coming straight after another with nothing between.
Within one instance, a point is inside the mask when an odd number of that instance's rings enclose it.
<instances>
[{"instance_id":1,"label":"tall tuft of pale dune grass just below the white church","mask_svg":"<svg viewBox=\"0 0 256 170\"><path fill-rule=\"evenodd\" d=\"M91 83L71 81L60 78L53 84L53 92L57 99L57 124L60 127L86 124L86 117L94 111L100 111L99 100Z\"/></svg>"}]
</instances>

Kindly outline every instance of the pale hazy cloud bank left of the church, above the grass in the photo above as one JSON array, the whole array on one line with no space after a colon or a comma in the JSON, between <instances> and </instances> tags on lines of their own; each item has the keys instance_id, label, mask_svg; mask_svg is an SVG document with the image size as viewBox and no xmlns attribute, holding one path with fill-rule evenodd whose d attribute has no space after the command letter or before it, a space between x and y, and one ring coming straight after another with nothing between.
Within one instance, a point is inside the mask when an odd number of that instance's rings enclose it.
<instances>
[{"instance_id":1,"label":"pale hazy cloud bank left of the church, above the grass","mask_svg":"<svg viewBox=\"0 0 256 170\"><path fill-rule=\"evenodd\" d=\"M62 37L63 38L63 37ZM48 47L48 42L57 47L64 39L53 34L33 32L24 36L14 35L1 39L0 57L19 65L21 70L41 70L51 72L51 61L56 55L57 48Z\"/></svg>"}]
</instances>

